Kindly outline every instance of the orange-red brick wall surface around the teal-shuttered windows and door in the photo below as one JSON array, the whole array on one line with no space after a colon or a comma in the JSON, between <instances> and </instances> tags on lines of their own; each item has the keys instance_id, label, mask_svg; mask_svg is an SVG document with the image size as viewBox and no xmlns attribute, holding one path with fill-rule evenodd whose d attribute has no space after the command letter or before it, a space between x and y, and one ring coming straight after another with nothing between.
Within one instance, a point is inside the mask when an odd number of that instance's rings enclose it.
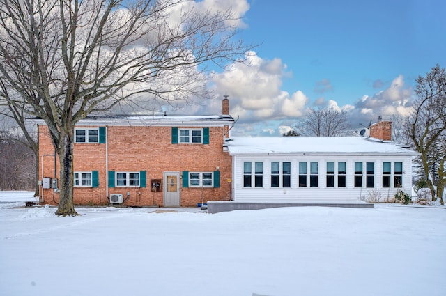
<instances>
[{"instance_id":1,"label":"orange-red brick wall surface around the teal-shuttered windows and door","mask_svg":"<svg viewBox=\"0 0 446 296\"><path fill-rule=\"evenodd\" d=\"M79 126L82 127L82 126ZM180 128L180 127L179 127ZM99 187L75 187L74 202L77 205L108 204L106 151L108 146L108 171L146 171L147 187L108 188L109 194L127 192L125 205L163 206L163 192L152 192L151 179L163 179L164 171L212 172L220 171L220 188L183 188L180 185L181 206L197 206L210 200L229 200L228 179L231 178L232 163L229 153L223 152L224 127L210 127L210 143L172 144L171 127L110 126L107 127L107 145L100 143L77 143L74 150L75 171L98 171ZM40 155L54 155L54 148L45 125L39 126ZM54 178L54 157L40 157L40 172ZM56 160L56 178L59 179L59 159ZM40 173L41 174L41 173ZM42 176L40 176L41 180ZM43 189L44 203L56 204L59 194L53 189Z\"/></svg>"}]
</instances>

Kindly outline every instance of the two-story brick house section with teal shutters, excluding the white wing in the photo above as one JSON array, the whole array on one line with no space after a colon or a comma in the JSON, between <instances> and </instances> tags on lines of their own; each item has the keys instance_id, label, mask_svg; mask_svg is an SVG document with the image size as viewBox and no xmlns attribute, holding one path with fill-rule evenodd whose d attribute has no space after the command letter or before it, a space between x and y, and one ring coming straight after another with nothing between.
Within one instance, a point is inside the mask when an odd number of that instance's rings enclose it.
<instances>
[{"instance_id":1,"label":"two-story brick house section with teal shutters, excluding the white wing","mask_svg":"<svg viewBox=\"0 0 446 296\"><path fill-rule=\"evenodd\" d=\"M234 120L220 116L91 116L75 128L75 205L197 206L229 200L232 162L224 141ZM57 204L59 159L38 125L40 202Z\"/></svg>"}]
</instances>

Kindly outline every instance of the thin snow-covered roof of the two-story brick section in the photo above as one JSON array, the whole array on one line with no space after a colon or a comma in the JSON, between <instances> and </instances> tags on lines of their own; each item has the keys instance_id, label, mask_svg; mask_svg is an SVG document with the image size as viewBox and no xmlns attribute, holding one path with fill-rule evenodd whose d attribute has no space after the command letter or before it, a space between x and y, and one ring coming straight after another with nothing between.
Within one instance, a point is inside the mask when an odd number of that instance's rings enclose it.
<instances>
[{"instance_id":1,"label":"thin snow-covered roof of the two-story brick section","mask_svg":"<svg viewBox=\"0 0 446 296\"><path fill-rule=\"evenodd\" d=\"M31 121L45 125L40 118ZM224 126L233 125L234 119L229 115L111 115L111 116L88 116L79 120L76 124L82 125L113 125L113 126Z\"/></svg>"}]
</instances>

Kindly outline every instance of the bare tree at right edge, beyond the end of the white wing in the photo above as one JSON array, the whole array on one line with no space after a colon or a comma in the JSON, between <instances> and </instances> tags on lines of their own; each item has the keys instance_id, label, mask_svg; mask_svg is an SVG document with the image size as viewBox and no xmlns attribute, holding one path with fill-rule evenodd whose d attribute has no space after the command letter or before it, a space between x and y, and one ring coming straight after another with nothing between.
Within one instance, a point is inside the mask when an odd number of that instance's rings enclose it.
<instances>
[{"instance_id":1,"label":"bare tree at right edge, beyond the end of the white wing","mask_svg":"<svg viewBox=\"0 0 446 296\"><path fill-rule=\"evenodd\" d=\"M407 129L431 189L432 200L441 204L446 183L446 71L436 65L425 77L417 78L417 100Z\"/></svg>"}]
</instances>

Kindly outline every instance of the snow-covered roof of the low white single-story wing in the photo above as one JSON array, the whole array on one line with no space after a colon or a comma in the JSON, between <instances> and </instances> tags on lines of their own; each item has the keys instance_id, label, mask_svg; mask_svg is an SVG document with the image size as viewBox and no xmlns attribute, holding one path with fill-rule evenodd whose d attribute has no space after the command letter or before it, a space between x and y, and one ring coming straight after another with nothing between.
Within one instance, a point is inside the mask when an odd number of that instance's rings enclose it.
<instances>
[{"instance_id":1,"label":"snow-covered roof of the low white single-story wing","mask_svg":"<svg viewBox=\"0 0 446 296\"><path fill-rule=\"evenodd\" d=\"M231 155L418 155L369 137L243 137L226 142Z\"/></svg>"}]
</instances>

